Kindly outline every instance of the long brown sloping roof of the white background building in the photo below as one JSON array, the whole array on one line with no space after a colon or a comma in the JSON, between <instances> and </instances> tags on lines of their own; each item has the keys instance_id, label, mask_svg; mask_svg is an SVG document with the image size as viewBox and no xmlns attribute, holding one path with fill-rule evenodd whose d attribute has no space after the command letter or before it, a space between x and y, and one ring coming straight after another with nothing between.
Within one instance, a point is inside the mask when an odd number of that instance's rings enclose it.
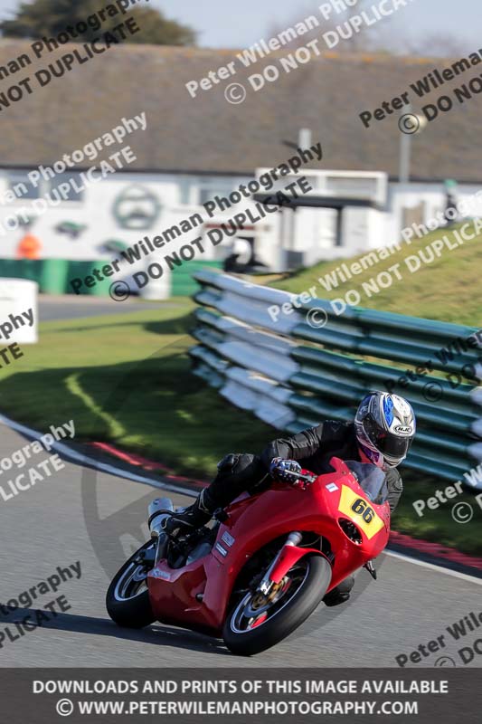
<instances>
[{"instance_id":1,"label":"long brown sloping roof of the white background building","mask_svg":"<svg viewBox=\"0 0 482 724\"><path fill-rule=\"evenodd\" d=\"M133 169L252 174L256 167L288 158L285 142L296 143L299 129L306 128L324 148L323 161L314 167L386 171L396 177L399 114L373 122L370 129L359 114L400 96L434 68L453 63L326 52L297 71L281 71L279 80L263 90L252 90L248 76L269 64L279 67L279 59L290 52L285 49L248 69L237 61L235 76L193 99L185 83L231 62L236 51L124 44L89 62L75 62L70 72L40 87L35 71L74 49L85 56L82 45L63 45L0 81L0 166L50 164L106 133L122 117L145 111L146 132L139 130L128 140L137 156ZM0 66L8 68L24 52L33 59L30 42L1 41ZM453 97L454 88L477 74L477 68L470 69L418 99L414 112L440 95ZM33 92L25 91L22 100L5 108L2 94L25 77ZM239 105L224 98L232 82L248 89ZM410 96L417 98L412 91ZM480 102L477 95L463 105L455 101L453 110L440 113L412 137L412 178L477 182L482 177Z\"/></svg>"}]
</instances>

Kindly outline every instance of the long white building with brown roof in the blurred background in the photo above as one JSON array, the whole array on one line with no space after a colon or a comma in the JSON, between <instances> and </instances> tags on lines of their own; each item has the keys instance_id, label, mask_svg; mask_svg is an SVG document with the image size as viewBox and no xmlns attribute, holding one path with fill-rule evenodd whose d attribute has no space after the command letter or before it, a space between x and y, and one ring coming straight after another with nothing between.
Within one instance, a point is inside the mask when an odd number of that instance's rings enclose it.
<instances>
[{"instance_id":1,"label":"long white building with brown roof in the blurred background","mask_svg":"<svg viewBox=\"0 0 482 724\"><path fill-rule=\"evenodd\" d=\"M23 41L0 43L0 64L28 48L29 43ZM322 159L300 170L313 187L307 195L329 199L331 206L333 199L345 199L343 215L333 208L296 213L284 209L248 223L236 234L243 241L226 237L222 243L206 244L193 262L175 268L175 293L189 291L189 273L206 262L222 266L228 259L229 265L237 256L241 266L285 271L398 243L404 226L423 224L443 211L447 178L458 180L458 198L477 193L481 152L467 145L464 137L468 127L477 127L472 106L464 109L464 132L455 109L412 138L410 184L397 181L401 138L397 119L373 129L365 129L359 119L362 110L376 107L393 89L413 80L414 73L418 77L431 70L432 62L337 58L331 53L280 78L242 105L226 102L222 89L193 99L185 83L222 65L230 53L235 52L119 45L101 61L75 67L68 77L4 108L0 274L38 275L45 287L40 264L22 262L22 269L14 270L12 260L25 233L38 240L33 255L40 260L71 262L71 268L66 264L63 271L59 264L55 267L57 291L63 283L61 274L64 282L72 275L88 274L92 264L111 262L145 236L169 235L169 252L198 236L205 239L252 202L242 202L213 218L205 218L203 205L216 195L229 196L264 170L286 162L300 145L309 148L307 134L300 137L300 129L309 129L311 138L323 148ZM33 74L34 64L29 70ZM304 82L305 74L309 83ZM340 84L343 93L337 92ZM94 86L95 94L90 92ZM28 174L41 164L53 165L64 154L85 148L121 120L124 123L138 114L145 116L146 129L137 129L115 147L103 148L92 163L85 159L38 186L28 182ZM446 138L451 139L450 153L440 154ZM81 190L81 174L127 146L135 158L132 163ZM80 190L72 186L65 199L44 209L43 197L55 195L70 179ZM281 181L279 185L283 186ZM21 193L8 194L12 188ZM350 199L358 205L351 205ZM172 231L196 214L203 218L192 232L181 237ZM126 275L164 258L166 248L139 260L135 268L127 265ZM83 265L75 267L80 262ZM170 284L168 276L164 281ZM96 286L91 293L107 291Z\"/></svg>"}]
</instances>

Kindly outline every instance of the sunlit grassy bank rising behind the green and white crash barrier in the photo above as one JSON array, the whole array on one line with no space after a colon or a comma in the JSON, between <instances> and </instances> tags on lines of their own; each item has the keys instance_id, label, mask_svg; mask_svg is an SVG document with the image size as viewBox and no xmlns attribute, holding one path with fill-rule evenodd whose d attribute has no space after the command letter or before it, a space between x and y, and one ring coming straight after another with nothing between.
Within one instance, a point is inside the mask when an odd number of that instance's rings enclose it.
<instances>
[{"instance_id":1,"label":"sunlit grassy bank rising behind the green and white crash barrier","mask_svg":"<svg viewBox=\"0 0 482 724\"><path fill-rule=\"evenodd\" d=\"M349 260L323 262L298 271L288 278L278 279L273 286L295 294L316 287L317 296L328 300L343 299L347 292L355 290L361 297L356 305L359 307L479 326L482 321L482 234L460 245L459 242L463 242L458 234L461 226L463 224L458 224L448 232L439 230L430 233L411 244L400 243L400 251L384 259L380 258L380 250L376 250L371 258L372 266L364 252ZM475 233L473 224L466 233ZM437 244L431 246L443 236L447 237L448 242L443 249L439 250ZM415 257L419 262L415 261ZM432 257L433 261L430 262ZM360 260L363 259L365 261L362 264ZM344 274L344 267L340 267L342 263L345 263L348 271L355 265L354 270L360 269L361 273L354 273L352 279L341 281L336 270ZM420 269L411 271L419 264ZM387 274L395 265L399 266ZM380 274L380 291L376 293L372 290L376 290L377 276ZM334 281L338 286L330 290ZM387 288L382 289L382 285Z\"/></svg>"}]
</instances>

